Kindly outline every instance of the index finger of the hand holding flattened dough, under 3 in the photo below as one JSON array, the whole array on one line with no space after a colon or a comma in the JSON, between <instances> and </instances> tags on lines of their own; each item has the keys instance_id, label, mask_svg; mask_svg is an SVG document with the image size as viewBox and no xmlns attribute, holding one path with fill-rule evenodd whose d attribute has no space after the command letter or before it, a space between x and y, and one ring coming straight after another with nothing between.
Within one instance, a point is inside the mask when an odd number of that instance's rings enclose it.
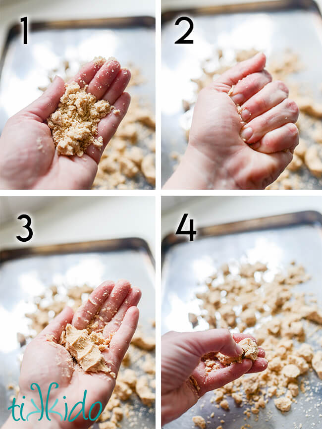
<instances>
[{"instance_id":1,"label":"index finger of the hand holding flattened dough, under 3","mask_svg":"<svg viewBox=\"0 0 322 429\"><path fill-rule=\"evenodd\" d=\"M74 314L72 325L77 329L85 329L100 310L113 287L114 282L105 281L94 289L88 300Z\"/></svg>"}]
</instances>

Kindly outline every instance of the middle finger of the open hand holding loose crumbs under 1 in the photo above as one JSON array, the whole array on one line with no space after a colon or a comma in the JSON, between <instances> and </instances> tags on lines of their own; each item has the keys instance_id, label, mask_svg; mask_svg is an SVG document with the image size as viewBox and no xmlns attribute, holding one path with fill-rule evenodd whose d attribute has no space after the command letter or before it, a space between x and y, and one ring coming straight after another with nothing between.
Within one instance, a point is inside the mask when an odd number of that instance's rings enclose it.
<instances>
[{"instance_id":1,"label":"middle finger of the open hand holding loose crumbs under 1","mask_svg":"<svg viewBox=\"0 0 322 429\"><path fill-rule=\"evenodd\" d=\"M120 68L120 63L116 59L107 60L88 84L87 92L95 95L97 100L101 100Z\"/></svg>"}]
</instances>

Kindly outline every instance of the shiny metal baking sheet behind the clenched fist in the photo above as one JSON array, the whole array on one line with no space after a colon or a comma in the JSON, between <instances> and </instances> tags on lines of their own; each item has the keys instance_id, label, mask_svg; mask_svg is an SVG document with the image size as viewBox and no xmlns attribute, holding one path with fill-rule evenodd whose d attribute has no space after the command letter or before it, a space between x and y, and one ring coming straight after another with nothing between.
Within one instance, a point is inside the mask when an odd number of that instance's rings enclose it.
<instances>
[{"instance_id":1,"label":"shiny metal baking sheet behind the clenched fist","mask_svg":"<svg viewBox=\"0 0 322 429\"><path fill-rule=\"evenodd\" d=\"M215 1L214 1L215 3ZM295 4L294 4L295 3ZM188 29L187 23L174 25L179 16L190 16L194 44L174 42ZM252 48L270 58L282 57L286 50L298 54L304 69L290 77L304 84L308 93L322 101L322 19L313 1L252 2L217 5L204 9L177 10L162 15L162 97L161 97L161 180L170 177L177 161L171 152L185 152L185 129L189 129L192 109L184 112L182 100L193 98L197 85L190 81L202 74L201 63L222 49L228 63L234 52ZM303 134L303 137L307 137ZM307 189L322 189L322 180L308 170L301 173Z\"/></svg>"}]
</instances>

